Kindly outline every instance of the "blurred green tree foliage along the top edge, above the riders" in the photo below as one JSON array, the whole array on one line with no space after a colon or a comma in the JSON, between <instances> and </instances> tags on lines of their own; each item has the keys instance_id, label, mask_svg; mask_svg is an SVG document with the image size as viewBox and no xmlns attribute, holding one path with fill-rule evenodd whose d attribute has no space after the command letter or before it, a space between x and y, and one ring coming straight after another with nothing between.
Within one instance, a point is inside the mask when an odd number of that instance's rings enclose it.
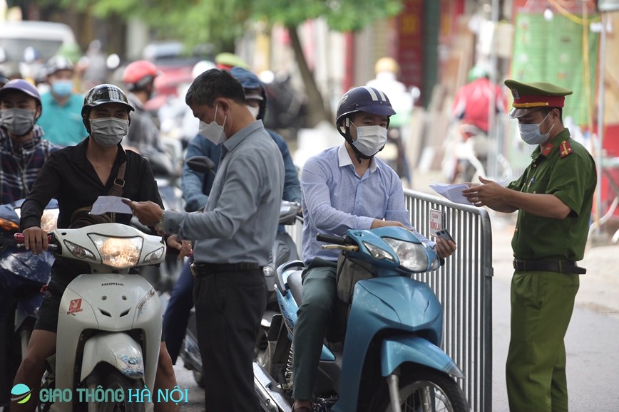
<instances>
[{"instance_id":1,"label":"blurred green tree foliage along the top edge, above the riders","mask_svg":"<svg viewBox=\"0 0 619 412\"><path fill-rule=\"evenodd\" d=\"M251 20L290 28L323 17L334 30L357 31L401 9L401 0L61 0L61 4L88 9L99 17L138 17L158 36L188 45L230 44Z\"/></svg>"}]
</instances>

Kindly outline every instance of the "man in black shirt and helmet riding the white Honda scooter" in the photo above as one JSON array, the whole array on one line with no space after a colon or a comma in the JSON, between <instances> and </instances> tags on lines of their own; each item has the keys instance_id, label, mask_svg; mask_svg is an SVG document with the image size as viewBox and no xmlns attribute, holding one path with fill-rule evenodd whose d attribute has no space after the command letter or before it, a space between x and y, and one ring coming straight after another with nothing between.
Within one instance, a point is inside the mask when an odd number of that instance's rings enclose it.
<instances>
[{"instance_id":1,"label":"man in black shirt and helmet riding the white Honda scooter","mask_svg":"<svg viewBox=\"0 0 619 412\"><path fill-rule=\"evenodd\" d=\"M82 118L89 133L88 139L61 149L48 159L21 207L20 226L26 249L41 253L48 247L47 233L40 226L43 208L50 199L58 200L58 228L68 228L76 209L92 206L98 196L110 192L122 164L126 164L123 196L163 205L146 159L135 152L125 152L121 147L121 140L128 131L131 110L133 108L128 104L126 95L114 85L98 85L86 93ZM118 223L128 224L130 220L131 216L116 215ZM39 398L37 394L46 358L56 352L61 296L68 283L84 273L83 270L83 266L74 261L58 258L53 263L51 281L39 310L39 319L15 378L15 384L26 384L32 389L34 399ZM162 337L155 393L158 389L173 389L175 385L172 361ZM11 411L34 410L36 402L30 404L31 408L26 403L13 402ZM155 411L177 409L173 402L155 402Z\"/></svg>"}]
</instances>

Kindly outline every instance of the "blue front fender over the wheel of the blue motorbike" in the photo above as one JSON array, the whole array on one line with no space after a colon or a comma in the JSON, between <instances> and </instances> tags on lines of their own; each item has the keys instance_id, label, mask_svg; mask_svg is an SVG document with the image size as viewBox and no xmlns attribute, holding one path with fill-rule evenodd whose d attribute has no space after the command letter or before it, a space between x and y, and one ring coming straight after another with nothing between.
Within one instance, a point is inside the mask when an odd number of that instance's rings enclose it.
<instances>
[{"instance_id":1,"label":"blue front fender over the wheel of the blue motorbike","mask_svg":"<svg viewBox=\"0 0 619 412\"><path fill-rule=\"evenodd\" d=\"M389 376L406 362L421 364L457 378L464 374L441 348L421 337L401 335L382 341L381 373Z\"/></svg>"}]
</instances>

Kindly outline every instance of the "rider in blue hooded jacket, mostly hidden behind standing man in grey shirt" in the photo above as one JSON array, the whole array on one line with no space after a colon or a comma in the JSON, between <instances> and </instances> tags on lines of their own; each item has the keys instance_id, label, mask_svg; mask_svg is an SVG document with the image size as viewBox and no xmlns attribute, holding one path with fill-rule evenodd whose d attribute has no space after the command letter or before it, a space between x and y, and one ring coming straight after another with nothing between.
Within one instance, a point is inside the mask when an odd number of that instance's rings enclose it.
<instances>
[{"instance_id":1,"label":"rider in blue hooded jacket, mostly hidden behind standing man in grey shirt","mask_svg":"<svg viewBox=\"0 0 619 412\"><path fill-rule=\"evenodd\" d=\"M262 120L265 116L267 107L267 97L265 86L254 73L245 68L234 67L230 70L230 74L241 83L245 90L245 98L250 111L257 120ZM297 177L297 169L292 163L292 157L284 139L279 134L272 130L267 130L272 139L277 144L282 152L285 168L284 194L283 200L301 202L301 188ZM190 159L194 156L209 157L216 166L219 164L221 155L221 146L215 145L210 140L206 139L202 134L197 134L188 144L187 154L185 159ZM183 189L183 198L185 199L186 211L197 211L203 208L208 200L208 194L213 186L215 173L202 174L191 170L187 164L183 166L183 177L181 179L181 189ZM283 231L283 228L280 228ZM163 315L163 332L165 334L165 343L168 346L168 352L176 363L176 358L180 352L183 337L185 337L185 329L187 329L190 310L193 307L193 276L190 272L190 261L188 260L180 273L178 281L172 290L168 307Z\"/></svg>"}]
</instances>

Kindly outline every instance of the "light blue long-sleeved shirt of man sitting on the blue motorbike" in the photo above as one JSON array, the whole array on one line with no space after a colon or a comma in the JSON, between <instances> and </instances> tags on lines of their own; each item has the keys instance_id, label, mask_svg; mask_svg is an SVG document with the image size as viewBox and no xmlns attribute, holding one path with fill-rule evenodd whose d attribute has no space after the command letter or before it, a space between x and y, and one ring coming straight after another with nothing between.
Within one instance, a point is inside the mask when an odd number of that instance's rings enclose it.
<instances>
[{"instance_id":1,"label":"light blue long-sleeved shirt of man sitting on the blue motorbike","mask_svg":"<svg viewBox=\"0 0 619 412\"><path fill-rule=\"evenodd\" d=\"M348 229L369 229L374 219L399 221L411 227L396 172L373 157L369 169L359 177L344 144L305 162L301 191L305 263L314 258L337 260L339 250L322 250L324 243L316 241L317 233L343 236Z\"/></svg>"}]
</instances>

